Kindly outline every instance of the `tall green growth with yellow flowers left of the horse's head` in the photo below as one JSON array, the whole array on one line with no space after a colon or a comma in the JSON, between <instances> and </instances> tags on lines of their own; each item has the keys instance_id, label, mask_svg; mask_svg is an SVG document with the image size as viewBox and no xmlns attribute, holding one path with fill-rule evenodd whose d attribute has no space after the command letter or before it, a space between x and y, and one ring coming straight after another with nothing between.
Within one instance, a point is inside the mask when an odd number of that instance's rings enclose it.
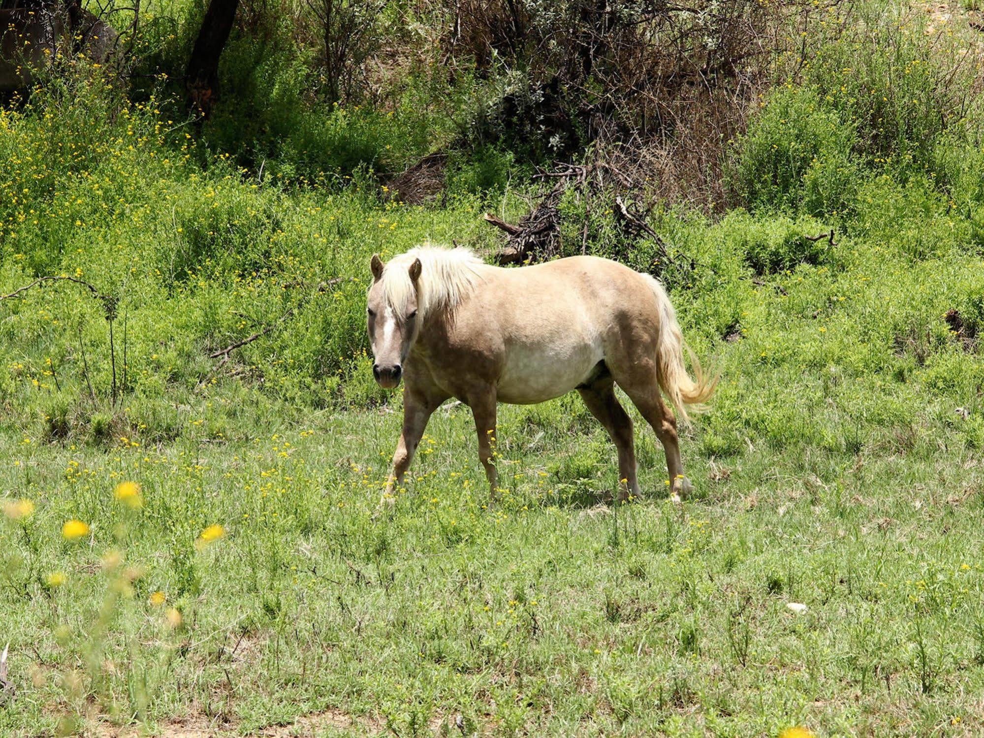
<instances>
[{"instance_id":1,"label":"tall green growth with yellow flowers left of the horse's head","mask_svg":"<svg viewBox=\"0 0 984 738\"><path fill-rule=\"evenodd\" d=\"M344 113L336 115L344 130ZM474 202L462 193L446 213L383 205L383 191L364 176L291 190L282 177L259 180L226 154L202 151L188 131L154 104L120 104L94 75L77 79L71 93L38 92L22 109L4 111L4 291L68 275L117 298L116 349L122 353L126 321L127 384L137 396L194 390L212 378L210 352L277 325L237 352L240 375L271 397L346 401L339 380L364 362L359 279L369 256L410 248L421 232L461 237ZM341 281L319 288L335 277ZM23 371L58 376L64 391L80 396L90 384L97 396L108 394L107 325L85 287L29 291L4 308L11 317L4 340L31 357ZM48 360L58 368L42 375ZM43 382L45 392L52 383ZM352 391L358 401L372 399Z\"/></svg>"}]
</instances>

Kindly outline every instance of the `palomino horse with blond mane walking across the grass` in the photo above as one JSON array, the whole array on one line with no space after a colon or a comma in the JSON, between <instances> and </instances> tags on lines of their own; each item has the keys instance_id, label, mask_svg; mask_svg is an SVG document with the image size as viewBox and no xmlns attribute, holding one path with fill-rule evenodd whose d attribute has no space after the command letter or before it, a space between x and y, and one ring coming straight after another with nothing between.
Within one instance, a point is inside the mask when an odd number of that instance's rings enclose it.
<instances>
[{"instance_id":1,"label":"palomino horse with blond mane walking across the grass","mask_svg":"<svg viewBox=\"0 0 984 738\"><path fill-rule=\"evenodd\" d=\"M394 485L444 400L471 408L495 494L496 403L532 404L575 389L618 449L620 499L639 495L632 419L615 383L662 443L674 499L691 491L676 418L659 388L686 420L685 404L708 400L716 380L696 357L697 380L687 374L676 311L654 278L589 256L502 269L461 248L416 248L385 265L373 256L371 267L373 375L386 389L401 377L405 383L403 430L383 501L395 499Z\"/></svg>"}]
</instances>

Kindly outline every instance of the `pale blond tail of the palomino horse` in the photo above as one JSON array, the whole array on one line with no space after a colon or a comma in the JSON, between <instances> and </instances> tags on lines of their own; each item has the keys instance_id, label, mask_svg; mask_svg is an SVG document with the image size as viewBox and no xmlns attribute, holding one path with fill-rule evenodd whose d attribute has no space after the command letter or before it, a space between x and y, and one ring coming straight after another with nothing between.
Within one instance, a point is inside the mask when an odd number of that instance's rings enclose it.
<instances>
[{"instance_id":1,"label":"pale blond tail of the palomino horse","mask_svg":"<svg viewBox=\"0 0 984 738\"><path fill-rule=\"evenodd\" d=\"M710 400L717 386L717 375L705 374L697 354L683 339L676 310L673 309L666 290L653 277L648 279L656 295L656 304L659 306L659 339L656 343L659 386L673 402L680 418L684 422L689 422L687 405L697 405L696 409L700 409L703 403ZM690 354L690 363L694 370L693 379L687 373L684 350Z\"/></svg>"}]
</instances>

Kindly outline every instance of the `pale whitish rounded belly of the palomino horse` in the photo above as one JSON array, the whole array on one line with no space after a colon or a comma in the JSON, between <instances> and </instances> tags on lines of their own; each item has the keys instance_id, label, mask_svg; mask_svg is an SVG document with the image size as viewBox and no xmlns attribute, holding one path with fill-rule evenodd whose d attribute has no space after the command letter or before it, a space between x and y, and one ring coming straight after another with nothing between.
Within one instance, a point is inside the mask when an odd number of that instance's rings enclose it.
<instances>
[{"instance_id":1,"label":"pale whitish rounded belly of the palomino horse","mask_svg":"<svg viewBox=\"0 0 984 738\"><path fill-rule=\"evenodd\" d=\"M514 346L496 385L500 402L533 404L566 395L590 377L604 358L600 345Z\"/></svg>"}]
</instances>

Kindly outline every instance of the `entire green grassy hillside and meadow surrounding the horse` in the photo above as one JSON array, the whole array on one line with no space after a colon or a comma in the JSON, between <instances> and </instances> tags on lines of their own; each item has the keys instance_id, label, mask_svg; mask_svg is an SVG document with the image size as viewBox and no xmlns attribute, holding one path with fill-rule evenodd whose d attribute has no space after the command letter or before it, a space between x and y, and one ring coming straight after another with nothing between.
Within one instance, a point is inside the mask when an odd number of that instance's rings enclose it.
<instances>
[{"instance_id":1,"label":"entire green grassy hillside and meadow surrounding the horse","mask_svg":"<svg viewBox=\"0 0 984 738\"><path fill-rule=\"evenodd\" d=\"M375 517L369 258L491 256L481 215L542 195L461 135L508 75L391 60L378 107L309 104L307 57L236 31L205 126L81 61L0 108L0 736L984 733L984 57L939 9L817 7L727 207L658 202L657 242L559 200L560 255L659 276L721 374L680 506L638 417L616 504L567 397L501 408L496 501L449 403Z\"/></svg>"}]
</instances>

